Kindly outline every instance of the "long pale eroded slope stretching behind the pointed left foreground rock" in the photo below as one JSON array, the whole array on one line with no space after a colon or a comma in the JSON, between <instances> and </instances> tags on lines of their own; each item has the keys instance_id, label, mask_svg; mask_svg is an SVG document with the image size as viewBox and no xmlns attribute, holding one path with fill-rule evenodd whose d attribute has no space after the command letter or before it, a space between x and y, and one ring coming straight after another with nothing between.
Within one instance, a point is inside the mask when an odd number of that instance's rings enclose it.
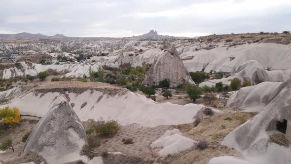
<instances>
[{"instance_id":1,"label":"long pale eroded slope stretching behind the pointed left foreground rock","mask_svg":"<svg viewBox=\"0 0 291 164\"><path fill-rule=\"evenodd\" d=\"M71 88L56 88L42 93L32 91L16 97L6 104L20 109L20 114L43 117L50 104L60 96L62 90ZM76 88L78 89L78 88ZM203 105L177 105L169 102L156 103L144 95L136 94L127 89L120 89L123 94L109 95L106 90L87 90L82 93L67 92L70 104L81 121L88 119L117 120L121 125L138 123L142 126L171 125L193 122L193 117L203 108ZM113 92L113 91L112 91ZM30 102L30 103L27 103ZM81 108L82 104L87 105ZM134 103L133 103L134 102ZM0 106L4 107L5 105Z\"/></svg>"}]
</instances>

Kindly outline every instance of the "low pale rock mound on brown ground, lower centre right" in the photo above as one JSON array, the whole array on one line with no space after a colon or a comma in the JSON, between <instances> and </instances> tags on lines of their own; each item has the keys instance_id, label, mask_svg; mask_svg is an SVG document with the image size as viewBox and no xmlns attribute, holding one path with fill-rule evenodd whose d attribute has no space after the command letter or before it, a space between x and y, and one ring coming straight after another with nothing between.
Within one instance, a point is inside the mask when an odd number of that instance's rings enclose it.
<instances>
[{"instance_id":1,"label":"low pale rock mound on brown ground, lower centre right","mask_svg":"<svg viewBox=\"0 0 291 164\"><path fill-rule=\"evenodd\" d=\"M168 156L191 148L197 141L182 136L178 129L167 130L160 138L150 144L151 148L162 148L159 155Z\"/></svg>"}]
</instances>

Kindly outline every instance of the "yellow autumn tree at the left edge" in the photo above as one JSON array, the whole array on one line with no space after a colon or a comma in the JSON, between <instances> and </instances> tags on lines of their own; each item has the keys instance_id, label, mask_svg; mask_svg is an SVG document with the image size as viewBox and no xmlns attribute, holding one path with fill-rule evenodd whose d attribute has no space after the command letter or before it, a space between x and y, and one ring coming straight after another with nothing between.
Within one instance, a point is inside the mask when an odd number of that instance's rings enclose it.
<instances>
[{"instance_id":1,"label":"yellow autumn tree at the left edge","mask_svg":"<svg viewBox=\"0 0 291 164\"><path fill-rule=\"evenodd\" d=\"M9 125L20 123L21 117L19 109L16 107L4 107L0 109L0 120L4 123L5 128Z\"/></svg>"}]
</instances>

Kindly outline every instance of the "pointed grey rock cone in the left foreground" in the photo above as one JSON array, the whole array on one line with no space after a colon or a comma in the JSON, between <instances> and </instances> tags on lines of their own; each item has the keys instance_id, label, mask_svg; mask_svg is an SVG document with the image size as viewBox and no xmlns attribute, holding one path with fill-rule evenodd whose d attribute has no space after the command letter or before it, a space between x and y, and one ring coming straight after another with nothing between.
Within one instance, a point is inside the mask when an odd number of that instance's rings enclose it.
<instances>
[{"instance_id":1,"label":"pointed grey rock cone in the left foreground","mask_svg":"<svg viewBox=\"0 0 291 164\"><path fill-rule=\"evenodd\" d=\"M86 143L84 127L64 95L41 118L27 139L23 153L36 152L48 163L70 162Z\"/></svg>"}]
</instances>

